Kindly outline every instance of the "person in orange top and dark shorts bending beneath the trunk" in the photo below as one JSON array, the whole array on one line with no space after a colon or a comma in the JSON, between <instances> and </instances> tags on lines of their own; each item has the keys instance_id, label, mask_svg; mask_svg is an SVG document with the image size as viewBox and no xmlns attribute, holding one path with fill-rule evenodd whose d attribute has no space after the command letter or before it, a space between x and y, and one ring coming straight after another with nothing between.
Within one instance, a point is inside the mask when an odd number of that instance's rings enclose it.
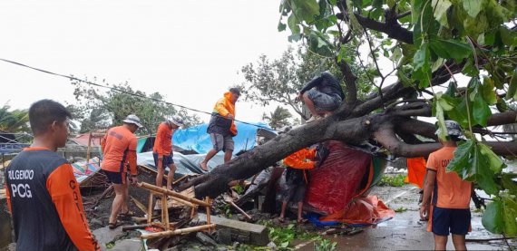
<instances>
[{"instance_id":1,"label":"person in orange top and dark shorts bending beneath the trunk","mask_svg":"<svg viewBox=\"0 0 517 251\"><path fill-rule=\"evenodd\" d=\"M298 223L304 223L306 220L302 217L303 200L308 184L307 169L314 169L317 166L316 149L298 150L297 152L284 159L286 165L286 183L287 189L282 194L282 209L278 221L284 222L286 208L288 202L298 203Z\"/></svg>"}]
</instances>

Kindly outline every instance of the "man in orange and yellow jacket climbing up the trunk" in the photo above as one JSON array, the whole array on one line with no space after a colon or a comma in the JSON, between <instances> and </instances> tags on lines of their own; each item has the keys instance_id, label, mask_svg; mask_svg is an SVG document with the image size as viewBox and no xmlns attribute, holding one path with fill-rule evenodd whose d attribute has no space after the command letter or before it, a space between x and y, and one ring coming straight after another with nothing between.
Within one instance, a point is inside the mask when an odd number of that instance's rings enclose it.
<instances>
[{"instance_id":1,"label":"man in orange and yellow jacket climbing up the trunk","mask_svg":"<svg viewBox=\"0 0 517 251\"><path fill-rule=\"evenodd\" d=\"M224 151L224 162L231 159L233 153L233 137L237 136L235 120L235 102L239 99L240 91L237 88L230 88L229 92L224 93L224 98L220 99L212 111L207 132L210 133L213 149L207 153L205 159L200 163L200 168L208 171L209 160L212 159L219 150Z\"/></svg>"}]
</instances>

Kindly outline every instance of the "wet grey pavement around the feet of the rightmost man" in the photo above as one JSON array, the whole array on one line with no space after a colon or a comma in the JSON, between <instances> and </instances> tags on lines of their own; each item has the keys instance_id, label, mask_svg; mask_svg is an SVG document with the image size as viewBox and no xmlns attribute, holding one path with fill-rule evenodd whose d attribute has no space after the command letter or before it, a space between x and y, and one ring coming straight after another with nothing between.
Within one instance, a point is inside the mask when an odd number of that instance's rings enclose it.
<instances>
[{"instance_id":1,"label":"wet grey pavement around the feet of the rightmost man","mask_svg":"<svg viewBox=\"0 0 517 251\"><path fill-rule=\"evenodd\" d=\"M392 209L401 209L404 212L396 213L395 218L378 224L376 227L365 228L365 231L352 237L335 236L332 241L337 242L337 250L432 250L434 237L426 231L426 222L420 221L417 204L419 189L410 185L402 188L377 187L370 195L377 195ZM467 239L501 238L486 231L481 223L482 214L475 210L473 204L472 228ZM517 240L508 241L513 250L517 250ZM447 249L454 250L451 237ZM510 250L503 240L467 242L469 250ZM313 245L307 245L299 250L314 250Z\"/></svg>"}]
</instances>

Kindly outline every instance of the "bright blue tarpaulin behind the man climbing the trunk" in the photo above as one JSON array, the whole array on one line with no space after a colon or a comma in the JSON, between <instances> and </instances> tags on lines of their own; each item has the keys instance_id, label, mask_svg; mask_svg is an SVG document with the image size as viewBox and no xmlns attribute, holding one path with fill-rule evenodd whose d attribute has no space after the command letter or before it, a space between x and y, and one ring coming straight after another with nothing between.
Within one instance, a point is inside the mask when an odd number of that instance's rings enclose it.
<instances>
[{"instance_id":1,"label":"bright blue tarpaulin behind the man climbing the trunk","mask_svg":"<svg viewBox=\"0 0 517 251\"><path fill-rule=\"evenodd\" d=\"M250 150L256 144L257 130L259 128L269 128L265 123L242 123L235 121L238 134L233 137L235 141L235 149L233 154L240 150ZM210 135L207 133L208 124L201 124L199 126L190 127L184 130L176 130L172 136L172 144L184 150L195 150L198 153L204 154L212 149ZM222 154L222 151L219 151Z\"/></svg>"}]
</instances>

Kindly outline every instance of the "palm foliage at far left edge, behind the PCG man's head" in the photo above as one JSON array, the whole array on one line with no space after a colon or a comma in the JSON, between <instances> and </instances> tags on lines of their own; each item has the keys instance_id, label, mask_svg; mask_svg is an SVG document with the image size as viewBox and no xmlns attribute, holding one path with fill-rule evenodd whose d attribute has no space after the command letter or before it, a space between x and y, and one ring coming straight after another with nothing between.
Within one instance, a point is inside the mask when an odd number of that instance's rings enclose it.
<instances>
[{"instance_id":1,"label":"palm foliage at far left edge, behind the PCG man's head","mask_svg":"<svg viewBox=\"0 0 517 251\"><path fill-rule=\"evenodd\" d=\"M11 107L5 104L0 107L0 130L5 132L28 132L29 112L26 110L9 111Z\"/></svg>"}]
</instances>

